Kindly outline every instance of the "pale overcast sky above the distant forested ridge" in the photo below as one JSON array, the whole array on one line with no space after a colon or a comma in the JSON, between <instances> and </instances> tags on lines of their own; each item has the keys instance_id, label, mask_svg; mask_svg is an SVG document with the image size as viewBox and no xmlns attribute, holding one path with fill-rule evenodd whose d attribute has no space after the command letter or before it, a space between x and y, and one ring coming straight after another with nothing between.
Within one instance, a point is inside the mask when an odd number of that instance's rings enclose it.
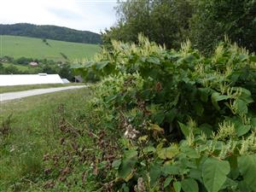
<instances>
[{"instance_id":1,"label":"pale overcast sky above the distant forested ridge","mask_svg":"<svg viewBox=\"0 0 256 192\"><path fill-rule=\"evenodd\" d=\"M67 26L101 32L113 26L116 0L0 0L0 23Z\"/></svg>"}]
</instances>

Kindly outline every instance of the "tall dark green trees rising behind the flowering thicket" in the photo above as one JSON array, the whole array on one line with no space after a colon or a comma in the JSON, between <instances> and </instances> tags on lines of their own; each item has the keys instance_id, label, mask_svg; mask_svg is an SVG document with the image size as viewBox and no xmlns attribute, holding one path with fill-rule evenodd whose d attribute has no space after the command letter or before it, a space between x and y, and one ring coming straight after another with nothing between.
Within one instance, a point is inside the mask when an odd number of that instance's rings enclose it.
<instances>
[{"instance_id":1,"label":"tall dark green trees rising behind the flowering thicket","mask_svg":"<svg viewBox=\"0 0 256 192\"><path fill-rule=\"evenodd\" d=\"M254 0L127 0L116 7L118 20L102 34L111 39L137 42L142 32L151 41L178 49L186 39L209 54L228 36L232 42L256 50Z\"/></svg>"}]
</instances>

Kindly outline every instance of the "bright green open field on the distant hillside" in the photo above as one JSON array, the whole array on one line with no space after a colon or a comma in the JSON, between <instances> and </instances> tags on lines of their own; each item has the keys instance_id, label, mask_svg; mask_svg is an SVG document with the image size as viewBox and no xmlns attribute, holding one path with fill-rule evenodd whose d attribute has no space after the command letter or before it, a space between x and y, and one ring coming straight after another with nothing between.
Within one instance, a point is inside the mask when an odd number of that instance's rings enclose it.
<instances>
[{"instance_id":1,"label":"bright green open field on the distant hillside","mask_svg":"<svg viewBox=\"0 0 256 192\"><path fill-rule=\"evenodd\" d=\"M17 36L1 36L1 55L15 59L22 56L34 59L63 61L64 57L71 61L75 59L91 59L101 48L96 44L79 44L47 39L47 44L41 38L25 38Z\"/></svg>"}]
</instances>

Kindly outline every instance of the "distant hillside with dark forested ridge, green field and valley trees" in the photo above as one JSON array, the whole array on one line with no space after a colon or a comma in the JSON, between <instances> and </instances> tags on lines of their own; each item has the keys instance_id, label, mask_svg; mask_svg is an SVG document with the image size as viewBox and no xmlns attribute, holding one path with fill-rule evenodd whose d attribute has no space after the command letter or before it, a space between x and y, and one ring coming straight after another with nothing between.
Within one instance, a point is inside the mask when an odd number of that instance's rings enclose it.
<instances>
[{"instance_id":1,"label":"distant hillside with dark forested ridge, green field and valley trees","mask_svg":"<svg viewBox=\"0 0 256 192\"><path fill-rule=\"evenodd\" d=\"M61 26L0 25L0 74L58 73L72 80L73 63L91 60L101 41L95 32Z\"/></svg>"}]
</instances>

